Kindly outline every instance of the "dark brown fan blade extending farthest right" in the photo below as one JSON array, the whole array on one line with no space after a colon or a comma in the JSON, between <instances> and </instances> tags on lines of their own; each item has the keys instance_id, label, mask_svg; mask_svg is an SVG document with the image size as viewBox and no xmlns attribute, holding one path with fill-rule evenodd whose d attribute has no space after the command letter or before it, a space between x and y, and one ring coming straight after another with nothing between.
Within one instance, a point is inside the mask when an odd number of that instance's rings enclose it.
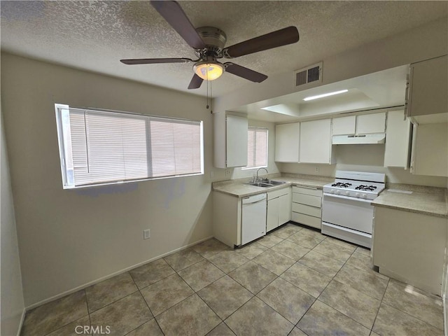
<instances>
[{"instance_id":1,"label":"dark brown fan blade extending farthest right","mask_svg":"<svg viewBox=\"0 0 448 336\"><path fill-rule=\"evenodd\" d=\"M226 58L234 58L252 54L253 52L281 47L282 45L288 45L297 41L299 41L299 31L296 27L291 26L230 45L230 47L223 49L223 55Z\"/></svg>"}]
</instances>

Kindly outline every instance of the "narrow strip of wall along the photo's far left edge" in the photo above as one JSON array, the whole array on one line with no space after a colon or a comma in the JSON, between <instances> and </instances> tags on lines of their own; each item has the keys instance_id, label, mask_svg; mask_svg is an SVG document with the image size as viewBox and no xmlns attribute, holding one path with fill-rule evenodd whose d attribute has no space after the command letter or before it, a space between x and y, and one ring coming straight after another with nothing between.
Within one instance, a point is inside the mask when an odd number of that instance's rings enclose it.
<instances>
[{"instance_id":1,"label":"narrow strip of wall along the photo's far left edge","mask_svg":"<svg viewBox=\"0 0 448 336\"><path fill-rule=\"evenodd\" d=\"M25 309L22 293L20 258L15 230L13 194L8 168L5 132L3 131L3 113L0 117L0 174L1 174L1 335L18 335L22 314Z\"/></svg>"}]
</instances>

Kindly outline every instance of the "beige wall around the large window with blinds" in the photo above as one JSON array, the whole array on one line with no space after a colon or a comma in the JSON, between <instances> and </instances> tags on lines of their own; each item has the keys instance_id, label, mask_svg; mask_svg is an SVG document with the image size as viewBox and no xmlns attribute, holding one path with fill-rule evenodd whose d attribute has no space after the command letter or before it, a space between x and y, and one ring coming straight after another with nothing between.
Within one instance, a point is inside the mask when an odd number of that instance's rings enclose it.
<instances>
[{"instance_id":1,"label":"beige wall around the large window with blinds","mask_svg":"<svg viewBox=\"0 0 448 336\"><path fill-rule=\"evenodd\" d=\"M1 70L25 306L212 235L202 97L9 54ZM204 120L205 174L63 190L55 103Z\"/></svg>"}]
</instances>

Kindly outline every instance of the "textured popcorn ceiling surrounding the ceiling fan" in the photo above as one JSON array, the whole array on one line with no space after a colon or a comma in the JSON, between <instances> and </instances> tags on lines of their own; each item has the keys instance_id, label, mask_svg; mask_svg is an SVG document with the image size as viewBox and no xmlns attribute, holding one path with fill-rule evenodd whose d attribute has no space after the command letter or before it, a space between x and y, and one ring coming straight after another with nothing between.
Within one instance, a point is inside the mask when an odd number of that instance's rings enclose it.
<instances>
[{"instance_id":1,"label":"textured popcorn ceiling surrounding the ceiling fan","mask_svg":"<svg viewBox=\"0 0 448 336\"><path fill-rule=\"evenodd\" d=\"M447 1L179 1L193 26L214 26L226 45L294 25L300 41L232 62L272 76L447 16ZM1 49L18 55L187 90L193 64L127 66L123 58L189 57L191 49L149 1L1 1ZM267 79L269 80L269 78ZM214 96L257 85L230 73Z\"/></svg>"}]
</instances>

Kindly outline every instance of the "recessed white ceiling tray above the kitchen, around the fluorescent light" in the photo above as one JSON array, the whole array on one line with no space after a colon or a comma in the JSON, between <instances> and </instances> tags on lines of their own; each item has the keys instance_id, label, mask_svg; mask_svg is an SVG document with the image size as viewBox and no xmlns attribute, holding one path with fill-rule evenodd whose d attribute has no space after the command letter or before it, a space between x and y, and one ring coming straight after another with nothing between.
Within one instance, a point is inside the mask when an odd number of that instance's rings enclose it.
<instances>
[{"instance_id":1,"label":"recessed white ceiling tray above the kitchen, around the fluorescent light","mask_svg":"<svg viewBox=\"0 0 448 336\"><path fill-rule=\"evenodd\" d=\"M272 123L288 123L341 113L381 109L405 104L406 76L409 66L403 65L337 83L267 99L232 111L247 114L249 119ZM305 97L348 90L342 94L305 102Z\"/></svg>"}]
</instances>

